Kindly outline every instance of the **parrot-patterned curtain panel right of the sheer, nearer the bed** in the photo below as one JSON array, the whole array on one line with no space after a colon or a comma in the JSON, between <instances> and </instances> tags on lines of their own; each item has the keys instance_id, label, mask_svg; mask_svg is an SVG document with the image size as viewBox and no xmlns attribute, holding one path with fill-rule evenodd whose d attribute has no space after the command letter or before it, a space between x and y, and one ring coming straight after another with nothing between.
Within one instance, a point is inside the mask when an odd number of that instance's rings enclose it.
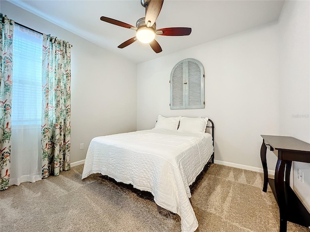
<instances>
[{"instance_id":1,"label":"parrot-patterned curtain panel right of the sheer, nearer the bed","mask_svg":"<svg viewBox=\"0 0 310 232\"><path fill-rule=\"evenodd\" d=\"M70 169L71 44L43 35L42 178Z\"/></svg>"}]
</instances>

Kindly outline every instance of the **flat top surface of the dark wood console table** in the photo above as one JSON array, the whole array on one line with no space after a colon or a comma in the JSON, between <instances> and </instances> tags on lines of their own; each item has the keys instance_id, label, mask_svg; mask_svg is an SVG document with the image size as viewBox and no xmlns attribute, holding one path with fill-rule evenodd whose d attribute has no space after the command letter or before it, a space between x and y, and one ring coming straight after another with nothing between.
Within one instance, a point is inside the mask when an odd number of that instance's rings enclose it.
<instances>
[{"instance_id":1,"label":"flat top surface of the dark wood console table","mask_svg":"<svg viewBox=\"0 0 310 232\"><path fill-rule=\"evenodd\" d=\"M261 135L266 144L277 150L294 150L310 153L310 144L289 136Z\"/></svg>"}]
</instances>

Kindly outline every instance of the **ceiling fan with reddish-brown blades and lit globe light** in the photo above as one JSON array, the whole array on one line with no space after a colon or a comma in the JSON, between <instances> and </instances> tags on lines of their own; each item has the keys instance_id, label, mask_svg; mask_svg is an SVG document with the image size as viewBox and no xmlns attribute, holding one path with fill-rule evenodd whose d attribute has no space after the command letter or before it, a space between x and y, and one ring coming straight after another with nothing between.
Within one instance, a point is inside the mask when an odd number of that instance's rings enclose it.
<instances>
[{"instance_id":1,"label":"ceiling fan with reddish-brown blades and lit globe light","mask_svg":"<svg viewBox=\"0 0 310 232\"><path fill-rule=\"evenodd\" d=\"M118 48L124 48L136 40L142 43L149 43L155 53L162 51L159 43L155 40L155 35L183 36L189 35L191 28L163 28L156 29L156 19L160 13L164 0L141 0L141 5L145 7L145 17L138 19L136 27L116 19L101 16L100 19L107 23L123 28L136 30L136 36L120 44Z\"/></svg>"}]
</instances>

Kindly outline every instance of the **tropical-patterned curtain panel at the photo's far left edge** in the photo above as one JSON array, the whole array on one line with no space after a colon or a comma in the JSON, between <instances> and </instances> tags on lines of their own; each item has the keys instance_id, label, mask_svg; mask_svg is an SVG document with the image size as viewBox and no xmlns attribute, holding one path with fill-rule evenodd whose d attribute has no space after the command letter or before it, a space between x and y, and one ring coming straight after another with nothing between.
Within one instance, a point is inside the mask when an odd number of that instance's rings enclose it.
<instances>
[{"instance_id":1,"label":"tropical-patterned curtain panel at the photo's far left edge","mask_svg":"<svg viewBox=\"0 0 310 232\"><path fill-rule=\"evenodd\" d=\"M0 190L9 187L14 21L0 14Z\"/></svg>"}]
</instances>

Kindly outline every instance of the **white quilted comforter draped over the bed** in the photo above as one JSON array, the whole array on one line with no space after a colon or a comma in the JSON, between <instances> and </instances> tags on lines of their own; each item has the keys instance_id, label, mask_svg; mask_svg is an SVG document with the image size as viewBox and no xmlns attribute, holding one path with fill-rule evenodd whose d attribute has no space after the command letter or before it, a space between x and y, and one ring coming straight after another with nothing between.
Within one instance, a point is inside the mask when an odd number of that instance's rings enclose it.
<instances>
[{"instance_id":1,"label":"white quilted comforter draped over the bed","mask_svg":"<svg viewBox=\"0 0 310 232\"><path fill-rule=\"evenodd\" d=\"M155 203L181 217L182 232L198 221L189 186L213 153L209 133L146 130L93 138L82 179L101 173L154 195Z\"/></svg>"}]
</instances>

